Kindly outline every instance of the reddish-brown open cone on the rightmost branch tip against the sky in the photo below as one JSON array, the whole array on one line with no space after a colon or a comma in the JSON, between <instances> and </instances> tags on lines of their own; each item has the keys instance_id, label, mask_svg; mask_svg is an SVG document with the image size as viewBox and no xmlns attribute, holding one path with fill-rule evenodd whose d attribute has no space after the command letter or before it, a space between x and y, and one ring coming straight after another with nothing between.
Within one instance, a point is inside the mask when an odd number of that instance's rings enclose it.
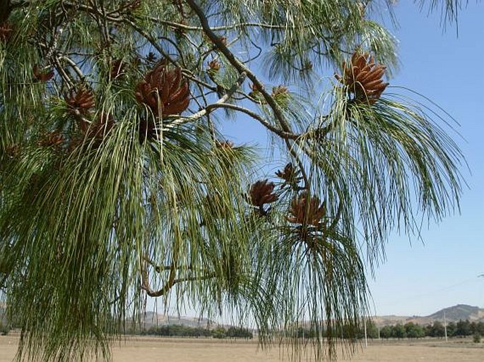
<instances>
[{"instance_id":1,"label":"reddish-brown open cone on the rightmost branch tip against the sky","mask_svg":"<svg viewBox=\"0 0 484 362\"><path fill-rule=\"evenodd\" d=\"M382 80L386 66L375 64L373 56L369 56L368 53L356 51L350 64L343 61L343 77L339 74L334 76L348 86L349 91L355 94L355 100L374 104L389 83Z\"/></svg>"}]
</instances>

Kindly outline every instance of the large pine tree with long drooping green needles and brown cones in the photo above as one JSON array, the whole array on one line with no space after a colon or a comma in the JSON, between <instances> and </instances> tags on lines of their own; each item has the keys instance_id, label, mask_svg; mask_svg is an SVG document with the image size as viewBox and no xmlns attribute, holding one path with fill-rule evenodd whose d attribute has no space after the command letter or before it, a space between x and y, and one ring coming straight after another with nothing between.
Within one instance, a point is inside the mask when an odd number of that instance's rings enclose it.
<instances>
[{"instance_id":1,"label":"large pine tree with long drooping green needles and brown cones","mask_svg":"<svg viewBox=\"0 0 484 362\"><path fill-rule=\"evenodd\" d=\"M1 0L0 283L19 358L109 358L147 297L317 358L351 343L389 231L461 194L448 116L389 87L382 7ZM264 127L276 160L225 140L230 118Z\"/></svg>"}]
</instances>

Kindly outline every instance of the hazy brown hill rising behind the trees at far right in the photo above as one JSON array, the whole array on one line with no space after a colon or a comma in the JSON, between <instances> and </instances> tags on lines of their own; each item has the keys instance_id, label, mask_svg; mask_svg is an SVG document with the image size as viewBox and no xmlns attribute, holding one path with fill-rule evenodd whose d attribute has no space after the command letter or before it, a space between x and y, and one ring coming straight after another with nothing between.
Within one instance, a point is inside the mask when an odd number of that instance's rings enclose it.
<instances>
[{"instance_id":1,"label":"hazy brown hill rising behind the trees at far right","mask_svg":"<svg viewBox=\"0 0 484 362\"><path fill-rule=\"evenodd\" d=\"M434 322L435 320L443 322L444 315L447 322L458 322L459 320L466 319L470 320L471 322L484 322L484 309L476 306L467 306L466 304L458 304L457 306L444 308L435 313L432 313L431 315L423 317L418 315L382 315L373 317L372 319L380 327L383 325L395 325L396 323L405 324L408 322L414 322L420 325L427 325Z\"/></svg>"}]
</instances>

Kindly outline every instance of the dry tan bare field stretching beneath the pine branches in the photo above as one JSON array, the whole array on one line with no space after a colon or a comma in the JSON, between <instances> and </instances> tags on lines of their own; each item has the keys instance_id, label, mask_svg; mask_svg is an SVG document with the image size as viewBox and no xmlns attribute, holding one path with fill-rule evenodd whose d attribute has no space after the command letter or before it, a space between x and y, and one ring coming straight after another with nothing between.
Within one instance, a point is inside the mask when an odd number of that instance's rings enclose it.
<instances>
[{"instance_id":1,"label":"dry tan bare field stretching beneath the pine branches","mask_svg":"<svg viewBox=\"0 0 484 362\"><path fill-rule=\"evenodd\" d=\"M18 336L0 337L0 362L11 362L16 354ZM170 339L132 337L113 347L114 362L278 362L289 361L278 347L261 351L254 341L214 339ZM282 359L281 359L282 358ZM302 361L310 361L302 358ZM374 341L352 358L355 362L484 362L484 343L469 339L423 341Z\"/></svg>"}]
</instances>

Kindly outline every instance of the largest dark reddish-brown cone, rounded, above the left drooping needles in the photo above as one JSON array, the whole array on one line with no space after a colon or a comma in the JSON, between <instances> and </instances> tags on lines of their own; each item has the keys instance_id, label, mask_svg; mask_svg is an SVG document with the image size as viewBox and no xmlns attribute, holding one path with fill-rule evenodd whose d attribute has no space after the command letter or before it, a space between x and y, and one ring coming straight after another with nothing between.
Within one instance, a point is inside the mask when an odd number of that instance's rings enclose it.
<instances>
[{"instance_id":1,"label":"largest dark reddish-brown cone, rounded, above the left drooping needles","mask_svg":"<svg viewBox=\"0 0 484 362\"><path fill-rule=\"evenodd\" d=\"M155 116L180 114L189 104L190 89L182 70L167 71L159 64L135 88L136 100L146 104Z\"/></svg>"}]
</instances>

